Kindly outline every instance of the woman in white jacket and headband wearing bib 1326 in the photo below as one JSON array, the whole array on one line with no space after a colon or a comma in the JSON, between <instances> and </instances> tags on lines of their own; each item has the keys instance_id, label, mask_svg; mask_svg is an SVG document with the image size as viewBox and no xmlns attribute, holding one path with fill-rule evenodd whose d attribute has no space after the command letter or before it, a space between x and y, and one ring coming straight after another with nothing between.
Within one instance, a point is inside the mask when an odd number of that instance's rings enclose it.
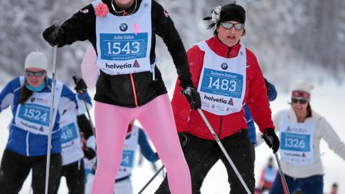
<instances>
[{"instance_id":1,"label":"woman in white jacket and headband wearing bib 1326","mask_svg":"<svg viewBox=\"0 0 345 194\"><path fill-rule=\"evenodd\" d=\"M280 157L288 188L304 194L322 194L324 171L320 158L320 140L345 160L345 144L324 117L311 109L311 90L308 83L297 84L291 93L290 110L282 110L273 117L280 135ZM270 194L284 193L277 175Z\"/></svg>"}]
</instances>

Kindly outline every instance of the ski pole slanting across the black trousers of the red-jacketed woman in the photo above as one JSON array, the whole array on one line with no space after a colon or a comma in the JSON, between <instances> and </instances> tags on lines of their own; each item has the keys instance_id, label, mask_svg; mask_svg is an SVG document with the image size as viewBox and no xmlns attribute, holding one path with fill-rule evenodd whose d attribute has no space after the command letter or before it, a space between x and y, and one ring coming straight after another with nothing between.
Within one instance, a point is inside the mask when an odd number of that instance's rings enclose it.
<instances>
[{"instance_id":1,"label":"ski pole slanting across the black trousers of the red-jacketed woman","mask_svg":"<svg viewBox=\"0 0 345 194\"><path fill-rule=\"evenodd\" d=\"M233 160L231 160L230 156L228 155L228 153L226 152L223 144L221 144L219 137L217 136L217 134L215 133L215 130L213 130L212 126L210 125L210 123L208 122L208 120L206 119L206 116L204 115L204 113L202 113L202 110L200 108L197 109L197 111L199 112L199 114L201 115L202 119L204 119L204 122L206 123L206 126L208 127L208 129L210 130L210 133L212 133L213 138L215 138L215 141L217 142L219 148L221 149L221 151L224 153L226 159L228 159L228 162L230 163L231 167L233 168L233 170L235 171L237 177L239 178L239 181L242 183L242 185L244 186L244 188L246 189L248 194L250 193L250 190L246 184L246 182L244 182L242 176L239 174L239 171L237 170L235 164L233 163Z\"/></svg>"}]
</instances>

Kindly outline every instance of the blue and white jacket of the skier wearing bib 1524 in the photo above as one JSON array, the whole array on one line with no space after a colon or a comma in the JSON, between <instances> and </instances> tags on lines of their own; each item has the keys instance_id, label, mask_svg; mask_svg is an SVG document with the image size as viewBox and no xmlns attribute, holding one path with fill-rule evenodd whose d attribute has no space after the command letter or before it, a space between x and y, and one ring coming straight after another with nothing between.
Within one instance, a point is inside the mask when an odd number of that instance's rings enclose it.
<instances>
[{"instance_id":1,"label":"blue and white jacket of the skier wearing bib 1524","mask_svg":"<svg viewBox=\"0 0 345 194\"><path fill-rule=\"evenodd\" d=\"M21 93L21 87L25 82L25 77L17 77L12 79L0 93L0 113L11 106L13 119L8 126L10 135L8 137L8 142L6 149L18 153L20 155L26 155L28 157L46 155L48 147L48 135L40 135L30 132L28 128L19 128L16 124L16 114L17 108L19 107L18 99ZM34 94L43 95L50 93L52 86L52 79L47 79L47 86L40 92ZM55 116L55 123L52 128L52 148L51 153L61 153L61 130L59 129L59 118L63 110L72 110L77 112L77 97L75 93L72 92L65 84L61 84L61 93L55 93L55 95L61 95L59 97L59 103L57 104L57 114ZM87 95L88 96L88 95ZM80 96L81 97L81 96ZM24 104L30 104L30 100L26 101ZM90 97L88 100L90 101ZM37 116L37 115L36 115ZM35 117L35 115L34 115ZM49 118L49 114L48 114ZM32 119L33 122L33 119ZM28 126L30 127L30 126Z\"/></svg>"}]
</instances>

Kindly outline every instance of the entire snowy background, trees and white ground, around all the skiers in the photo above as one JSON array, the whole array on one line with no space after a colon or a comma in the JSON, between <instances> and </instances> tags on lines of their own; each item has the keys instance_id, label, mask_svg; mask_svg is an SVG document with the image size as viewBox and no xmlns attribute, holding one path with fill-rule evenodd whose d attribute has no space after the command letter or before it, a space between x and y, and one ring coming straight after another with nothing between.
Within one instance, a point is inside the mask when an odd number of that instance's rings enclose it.
<instances>
[{"instance_id":1,"label":"entire snowy background, trees and white ground, around all the skiers","mask_svg":"<svg viewBox=\"0 0 345 194\"><path fill-rule=\"evenodd\" d=\"M23 73L23 61L31 50L43 50L51 59L52 48L43 41L41 33L55 19L65 21L74 12L83 8L88 0L23 0L15 3L1 0L0 7L0 90L13 77ZM181 34L186 48L193 43L207 39L212 32L205 30L203 17L208 16L215 6L224 5L224 0L159 0L170 12L175 26ZM247 35L244 44L257 55L264 76L278 90L276 101L271 103L273 114L289 108L288 90L298 80L315 84L312 107L335 128L339 137L345 140L345 1L307 0L239 0L247 11ZM63 6L65 5L65 6ZM72 75L80 75L79 64L86 42L59 49L57 79L71 84ZM171 95L176 80L176 70L164 43L157 38L159 68ZM48 70L51 75L51 70ZM71 85L72 86L72 85ZM90 93L95 93L94 89ZM93 111L93 110L92 110ZM6 146L6 127L12 115L10 110L0 115L0 157ZM339 193L345 193L344 160L328 149L322 142L324 161L324 191L328 192L333 182L339 183ZM266 145L257 148L255 175L266 164L270 150ZM159 165L160 166L160 165ZM153 175L150 164L135 168L132 180L135 193ZM161 182L155 182L144 193L153 193ZM64 183L64 182L63 182ZM29 193L30 178L21 193ZM226 171L223 164L217 164L204 182L202 192L206 194L228 193ZM67 193L63 184L59 193Z\"/></svg>"}]
</instances>

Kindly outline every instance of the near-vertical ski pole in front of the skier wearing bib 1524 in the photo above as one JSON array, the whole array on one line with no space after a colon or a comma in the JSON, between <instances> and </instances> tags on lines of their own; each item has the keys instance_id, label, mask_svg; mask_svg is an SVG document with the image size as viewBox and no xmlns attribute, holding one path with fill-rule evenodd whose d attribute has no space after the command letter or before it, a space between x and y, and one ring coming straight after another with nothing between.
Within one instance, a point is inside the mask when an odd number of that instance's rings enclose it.
<instances>
[{"instance_id":1,"label":"near-vertical ski pole in front of the skier wearing bib 1524","mask_svg":"<svg viewBox=\"0 0 345 194\"><path fill-rule=\"evenodd\" d=\"M55 32L57 33L59 30L59 21L54 21ZM56 63L57 63L57 46L54 46L54 54L52 57L52 88L51 88L51 95L50 95L50 113L49 113L49 133L48 133L48 150L47 150L47 162L46 162L46 188L45 194L48 194L48 182L49 182L49 167L50 167L50 149L52 148L52 127L54 124L52 123L53 118L52 116L54 111L54 95L55 95L55 72L56 72Z\"/></svg>"}]
</instances>

